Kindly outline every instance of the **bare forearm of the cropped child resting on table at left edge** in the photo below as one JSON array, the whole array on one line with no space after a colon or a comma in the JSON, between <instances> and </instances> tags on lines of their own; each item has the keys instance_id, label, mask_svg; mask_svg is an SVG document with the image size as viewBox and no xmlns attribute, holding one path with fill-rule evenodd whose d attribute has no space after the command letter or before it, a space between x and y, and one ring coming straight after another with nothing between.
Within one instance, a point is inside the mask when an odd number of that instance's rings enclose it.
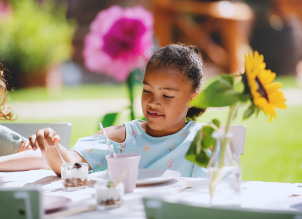
<instances>
[{"instance_id":1,"label":"bare forearm of the cropped child resting on table at left edge","mask_svg":"<svg viewBox=\"0 0 302 219\"><path fill-rule=\"evenodd\" d=\"M27 150L0 157L0 171L25 171L49 169L44 162L40 150Z\"/></svg>"}]
</instances>

